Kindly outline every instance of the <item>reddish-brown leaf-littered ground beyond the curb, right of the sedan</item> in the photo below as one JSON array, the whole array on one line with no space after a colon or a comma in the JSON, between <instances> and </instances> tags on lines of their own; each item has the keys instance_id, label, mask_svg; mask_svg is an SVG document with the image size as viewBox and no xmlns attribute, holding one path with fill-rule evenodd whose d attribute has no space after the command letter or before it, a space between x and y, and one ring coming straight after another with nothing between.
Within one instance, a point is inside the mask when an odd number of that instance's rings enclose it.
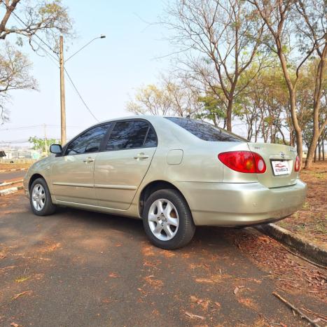
<instances>
[{"instance_id":1,"label":"reddish-brown leaf-littered ground beyond the curb, right of the sedan","mask_svg":"<svg viewBox=\"0 0 327 327\"><path fill-rule=\"evenodd\" d=\"M327 249L327 160L303 169L300 178L307 183L307 199L302 209L277 224Z\"/></svg>"}]
</instances>

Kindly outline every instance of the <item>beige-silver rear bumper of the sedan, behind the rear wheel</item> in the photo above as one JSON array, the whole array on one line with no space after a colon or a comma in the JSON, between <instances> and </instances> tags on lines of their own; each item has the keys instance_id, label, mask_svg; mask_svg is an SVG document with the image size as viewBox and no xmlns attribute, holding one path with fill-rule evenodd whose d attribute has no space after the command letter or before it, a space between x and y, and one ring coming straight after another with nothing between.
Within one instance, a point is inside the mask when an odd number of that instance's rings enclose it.
<instances>
[{"instance_id":1,"label":"beige-silver rear bumper of the sedan, behind the rear wheel","mask_svg":"<svg viewBox=\"0 0 327 327\"><path fill-rule=\"evenodd\" d=\"M307 184L266 188L260 183L179 182L195 225L243 226L270 223L302 207Z\"/></svg>"}]
</instances>

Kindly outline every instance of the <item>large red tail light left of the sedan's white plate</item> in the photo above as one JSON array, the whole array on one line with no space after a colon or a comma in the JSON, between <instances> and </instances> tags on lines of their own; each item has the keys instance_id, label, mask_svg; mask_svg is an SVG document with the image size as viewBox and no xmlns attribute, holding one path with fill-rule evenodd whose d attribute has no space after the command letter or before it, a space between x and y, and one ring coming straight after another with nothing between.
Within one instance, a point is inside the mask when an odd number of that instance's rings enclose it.
<instances>
[{"instance_id":1,"label":"large red tail light left of the sedan's white plate","mask_svg":"<svg viewBox=\"0 0 327 327\"><path fill-rule=\"evenodd\" d=\"M224 165L236 172L263 174L267 169L265 160L251 151L230 151L218 154Z\"/></svg>"}]
</instances>

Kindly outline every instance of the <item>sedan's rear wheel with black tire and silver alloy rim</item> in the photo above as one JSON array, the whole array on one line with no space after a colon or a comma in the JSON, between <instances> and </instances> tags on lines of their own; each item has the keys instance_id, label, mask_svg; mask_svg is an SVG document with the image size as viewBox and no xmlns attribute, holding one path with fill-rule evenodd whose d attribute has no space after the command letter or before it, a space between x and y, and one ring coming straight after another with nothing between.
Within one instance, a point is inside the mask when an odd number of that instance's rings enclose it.
<instances>
[{"instance_id":1,"label":"sedan's rear wheel with black tire and silver alloy rim","mask_svg":"<svg viewBox=\"0 0 327 327\"><path fill-rule=\"evenodd\" d=\"M181 193L173 189L157 190L148 197L143 225L151 243L165 250L186 246L195 233L190 208Z\"/></svg>"}]
</instances>

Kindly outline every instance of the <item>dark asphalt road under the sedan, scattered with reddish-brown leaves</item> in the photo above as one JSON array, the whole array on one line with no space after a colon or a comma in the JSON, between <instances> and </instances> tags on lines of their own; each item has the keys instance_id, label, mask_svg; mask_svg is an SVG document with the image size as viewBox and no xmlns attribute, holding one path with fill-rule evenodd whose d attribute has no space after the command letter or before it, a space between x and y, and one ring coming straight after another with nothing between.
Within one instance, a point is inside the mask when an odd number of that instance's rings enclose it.
<instances>
[{"instance_id":1,"label":"dark asphalt road under the sedan, scattered with reddish-brown leaves","mask_svg":"<svg viewBox=\"0 0 327 327\"><path fill-rule=\"evenodd\" d=\"M22 192L0 198L0 326L307 326L273 291L326 314L314 293L281 291L239 235L262 237L198 228L189 246L162 251L141 221L68 208L39 217Z\"/></svg>"}]
</instances>

